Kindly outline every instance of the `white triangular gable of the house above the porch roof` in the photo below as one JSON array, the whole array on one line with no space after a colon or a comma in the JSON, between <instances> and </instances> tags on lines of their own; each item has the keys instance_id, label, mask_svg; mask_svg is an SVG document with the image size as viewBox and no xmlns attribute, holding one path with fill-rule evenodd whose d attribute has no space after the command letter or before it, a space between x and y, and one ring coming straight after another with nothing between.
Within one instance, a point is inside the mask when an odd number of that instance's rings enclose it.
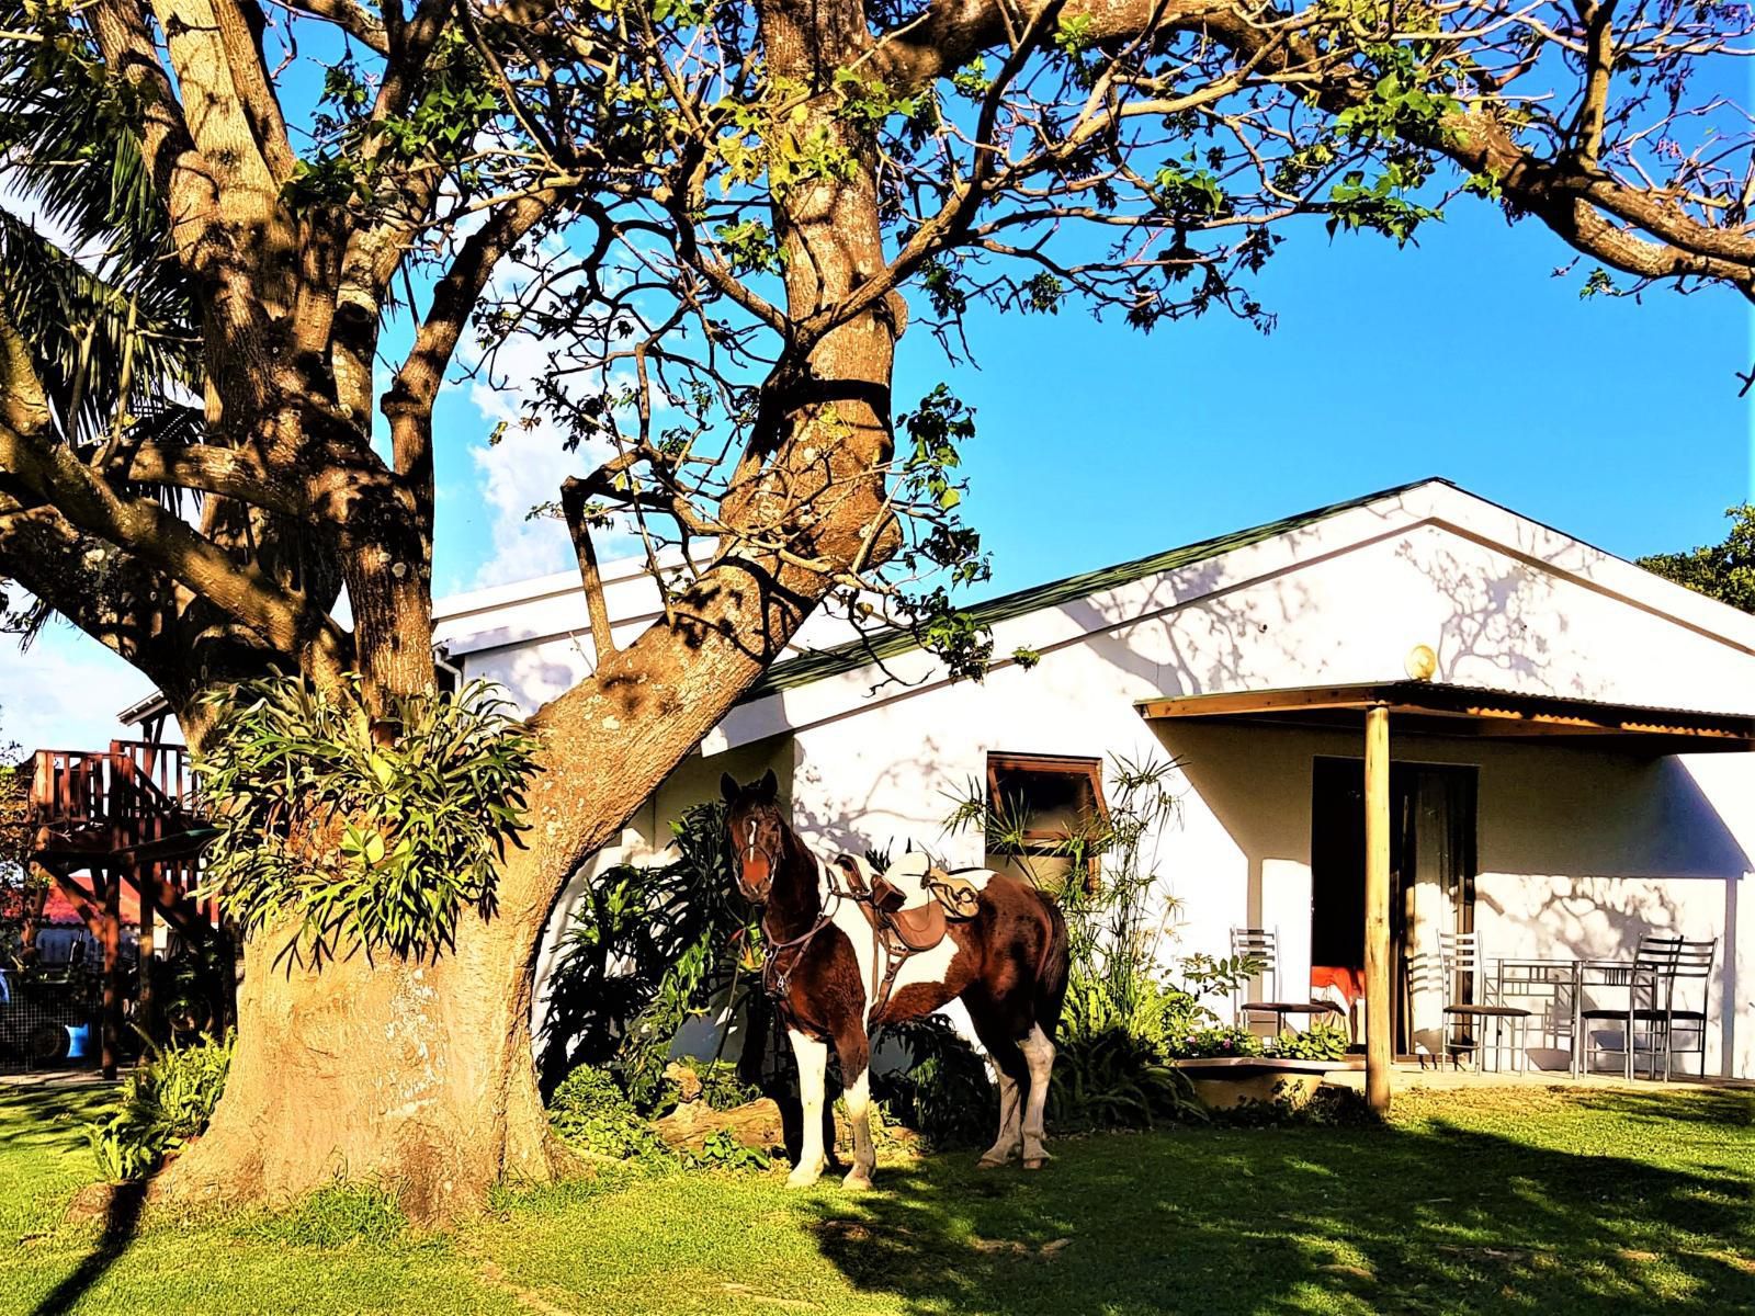
<instances>
[{"instance_id":1,"label":"white triangular gable of the house above the porch roof","mask_svg":"<svg viewBox=\"0 0 1755 1316\"><path fill-rule=\"evenodd\" d=\"M1128 669L1157 669L1164 693L1402 679L1411 646L1427 644L1441 681L1755 707L1744 693L1755 691L1755 618L1441 479L1023 590L971 616L993 628L995 653L1021 646L1049 660L1127 632ZM786 660L704 749L944 683L899 632Z\"/></svg>"}]
</instances>

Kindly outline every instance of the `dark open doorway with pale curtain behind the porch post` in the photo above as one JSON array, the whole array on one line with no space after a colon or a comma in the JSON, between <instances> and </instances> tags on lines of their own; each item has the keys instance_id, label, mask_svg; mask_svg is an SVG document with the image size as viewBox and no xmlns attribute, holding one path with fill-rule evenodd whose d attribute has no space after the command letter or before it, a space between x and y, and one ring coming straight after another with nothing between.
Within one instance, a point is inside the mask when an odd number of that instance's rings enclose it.
<instances>
[{"instance_id":1,"label":"dark open doorway with pale curtain behind the porch post","mask_svg":"<svg viewBox=\"0 0 1755 1316\"><path fill-rule=\"evenodd\" d=\"M1478 769L1390 765L1390 1002L1399 1056L1415 1051L1408 956L1439 930L1474 930ZM1364 981L1365 765L1316 758L1311 776L1311 979ZM1357 976L1357 977L1355 977ZM1418 1011L1423 1019L1429 1011Z\"/></svg>"}]
</instances>

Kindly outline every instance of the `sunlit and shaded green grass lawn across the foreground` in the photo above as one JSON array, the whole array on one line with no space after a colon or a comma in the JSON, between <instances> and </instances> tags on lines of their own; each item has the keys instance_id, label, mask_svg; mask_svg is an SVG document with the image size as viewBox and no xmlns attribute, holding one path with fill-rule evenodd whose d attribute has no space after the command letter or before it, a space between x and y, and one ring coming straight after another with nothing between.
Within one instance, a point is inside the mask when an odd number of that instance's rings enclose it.
<instances>
[{"instance_id":1,"label":"sunlit and shaded green grass lawn across the foreground","mask_svg":"<svg viewBox=\"0 0 1755 1316\"><path fill-rule=\"evenodd\" d=\"M1755 1311L1755 1095L1437 1091L1386 1130L1060 1141L879 1190L670 1174L418 1237L369 1195L105 1232L93 1095L0 1090L0 1312Z\"/></svg>"}]
</instances>

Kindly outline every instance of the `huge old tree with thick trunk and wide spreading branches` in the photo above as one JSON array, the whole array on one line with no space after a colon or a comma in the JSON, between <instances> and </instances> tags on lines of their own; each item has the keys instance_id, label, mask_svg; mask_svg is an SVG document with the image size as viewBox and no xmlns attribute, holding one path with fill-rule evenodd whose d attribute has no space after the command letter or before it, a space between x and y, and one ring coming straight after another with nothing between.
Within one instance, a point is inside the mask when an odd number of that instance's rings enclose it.
<instances>
[{"instance_id":1,"label":"huge old tree with thick trunk and wide spreading branches","mask_svg":"<svg viewBox=\"0 0 1755 1316\"><path fill-rule=\"evenodd\" d=\"M198 753L205 697L270 670L395 747L435 676L449 375L539 344L532 416L579 451L556 511L597 669L532 723L525 848L439 949L316 962L258 926L225 1100L167 1188L340 1167L444 1216L551 1172L526 1018L569 874L825 600L985 658L909 584L983 570L967 412L934 395L899 442L911 314L953 358L979 302L1265 323L1288 223L1406 242L1462 191L1553 230L1588 290L1751 295L1748 123L1713 89L1750 26L1673 0L0 0L0 186L42 219L0 221L0 574ZM309 128L297 51L330 65ZM688 549L625 647L605 525L655 574Z\"/></svg>"}]
</instances>

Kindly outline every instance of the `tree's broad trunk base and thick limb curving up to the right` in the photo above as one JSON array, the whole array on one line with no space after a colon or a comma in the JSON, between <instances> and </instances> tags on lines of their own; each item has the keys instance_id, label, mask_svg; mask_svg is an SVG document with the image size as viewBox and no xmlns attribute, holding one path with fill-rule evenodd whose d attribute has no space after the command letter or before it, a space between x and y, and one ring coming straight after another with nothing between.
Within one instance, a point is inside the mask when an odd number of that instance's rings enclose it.
<instances>
[{"instance_id":1,"label":"tree's broad trunk base and thick limb curving up to the right","mask_svg":"<svg viewBox=\"0 0 1755 1316\"><path fill-rule=\"evenodd\" d=\"M846 2L776 9L763 39L781 72L818 88L869 40L862 11ZM837 119L827 97L799 132L818 126L870 163L869 137ZM883 268L869 167L792 190L776 225L790 256L788 309L800 319ZM783 533L797 556L818 561L870 565L893 551L883 468L904 318L892 298L823 333L802 367L786 367L770 395L772 432L721 509L730 525ZM544 747L528 788L528 849L504 865L491 923L467 918L455 951L428 963L355 955L311 969L283 955L291 930L251 937L225 1098L154 1195L277 1202L344 1176L391 1188L416 1219L446 1221L477 1209L495 1183L551 1177L558 1153L528 1028L549 911L579 863L718 725L834 583L765 549L728 542L725 553L674 600L669 619L532 719ZM397 576L397 563L421 570ZM395 597L425 586L414 554L369 565L372 579L356 586L358 556L349 563L349 593L370 707L372 690L416 688L407 669L418 667L411 651L430 612ZM383 609L362 605L369 584L383 590Z\"/></svg>"}]
</instances>

